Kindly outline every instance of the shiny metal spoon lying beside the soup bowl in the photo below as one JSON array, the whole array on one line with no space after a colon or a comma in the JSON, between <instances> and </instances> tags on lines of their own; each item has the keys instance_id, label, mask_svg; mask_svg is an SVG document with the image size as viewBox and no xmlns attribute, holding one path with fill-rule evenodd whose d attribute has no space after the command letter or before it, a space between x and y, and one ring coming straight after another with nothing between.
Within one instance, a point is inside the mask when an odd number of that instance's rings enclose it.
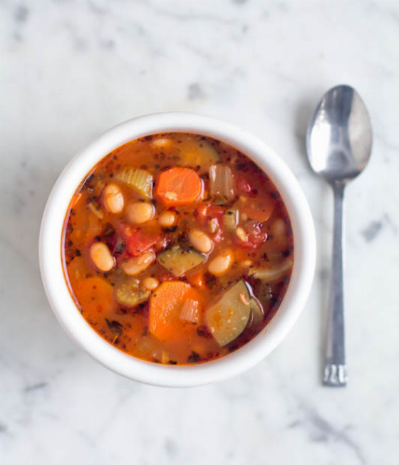
<instances>
[{"instance_id":1,"label":"shiny metal spoon lying beside the soup bowl","mask_svg":"<svg viewBox=\"0 0 399 465\"><path fill-rule=\"evenodd\" d=\"M334 230L331 296L328 303L323 385L348 381L343 328L343 191L361 174L371 155L371 121L366 105L349 85L323 95L309 122L306 147L311 167L333 188Z\"/></svg>"}]
</instances>

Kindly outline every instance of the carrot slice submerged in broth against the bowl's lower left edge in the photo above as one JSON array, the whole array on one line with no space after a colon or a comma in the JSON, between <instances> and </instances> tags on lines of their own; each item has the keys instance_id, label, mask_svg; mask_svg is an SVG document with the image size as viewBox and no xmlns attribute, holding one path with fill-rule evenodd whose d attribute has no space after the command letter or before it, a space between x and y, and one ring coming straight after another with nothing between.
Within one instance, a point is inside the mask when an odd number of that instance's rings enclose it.
<instances>
[{"instance_id":1,"label":"carrot slice submerged in broth against the bowl's lower left edge","mask_svg":"<svg viewBox=\"0 0 399 465\"><path fill-rule=\"evenodd\" d=\"M107 313L113 310L113 286L99 276L83 279L73 288L76 299L87 315Z\"/></svg>"}]
</instances>

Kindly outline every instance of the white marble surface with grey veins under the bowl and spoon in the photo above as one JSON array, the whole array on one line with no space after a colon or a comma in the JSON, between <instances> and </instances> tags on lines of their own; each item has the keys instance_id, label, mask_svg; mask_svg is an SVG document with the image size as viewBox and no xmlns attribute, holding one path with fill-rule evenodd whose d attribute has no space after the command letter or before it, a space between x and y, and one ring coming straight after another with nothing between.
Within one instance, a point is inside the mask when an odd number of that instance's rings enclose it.
<instances>
[{"instance_id":1,"label":"white marble surface with grey veins under the bowl and spoon","mask_svg":"<svg viewBox=\"0 0 399 465\"><path fill-rule=\"evenodd\" d=\"M0 463L398 464L399 3L0 1ZM321 387L331 193L304 130L355 86L373 119L348 188L346 389ZM306 310L249 372L171 390L125 380L68 339L38 272L46 197L95 135L144 113L242 125L289 162L311 204L318 266Z\"/></svg>"}]
</instances>

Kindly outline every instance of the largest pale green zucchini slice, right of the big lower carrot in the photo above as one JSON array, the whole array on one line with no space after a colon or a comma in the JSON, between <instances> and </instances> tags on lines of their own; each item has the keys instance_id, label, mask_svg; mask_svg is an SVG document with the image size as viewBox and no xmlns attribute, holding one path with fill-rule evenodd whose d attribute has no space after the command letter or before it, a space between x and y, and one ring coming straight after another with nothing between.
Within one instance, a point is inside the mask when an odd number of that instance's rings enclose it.
<instances>
[{"instance_id":1,"label":"largest pale green zucchini slice, right of the big lower carrot","mask_svg":"<svg viewBox=\"0 0 399 465\"><path fill-rule=\"evenodd\" d=\"M244 281L238 281L207 309L207 326L222 347L237 339L248 324L251 298Z\"/></svg>"}]
</instances>

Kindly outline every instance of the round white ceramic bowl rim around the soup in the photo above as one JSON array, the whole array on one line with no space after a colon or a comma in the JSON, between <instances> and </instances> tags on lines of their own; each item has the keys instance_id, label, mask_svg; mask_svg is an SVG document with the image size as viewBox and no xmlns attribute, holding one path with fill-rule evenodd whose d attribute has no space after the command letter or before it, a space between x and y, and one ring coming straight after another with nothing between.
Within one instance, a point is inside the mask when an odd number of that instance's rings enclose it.
<instances>
[{"instance_id":1,"label":"round white ceramic bowl rim around the soup","mask_svg":"<svg viewBox=\"0 0 399 465\"><path fill-rule=\"evenodd\" d=\"M105 155L129 140L157 132L194 132L229 143L264 169L279 190L294 234L294 270L276 315L264 330L239 350L212 362L165 366L121 352L90 328L68 291L61 261L61 234L68 204L87 172ZM289 333L308 297L314 276L316 239L309 205L294 174L264 142L211 117L192 113L159 113L123 122L92 142L63 170L48 198L41 224L39 256L44 288L66 332L105 367L152 385L187 387L238 375L262 360Z\"/></svg>"}]
</instances>

